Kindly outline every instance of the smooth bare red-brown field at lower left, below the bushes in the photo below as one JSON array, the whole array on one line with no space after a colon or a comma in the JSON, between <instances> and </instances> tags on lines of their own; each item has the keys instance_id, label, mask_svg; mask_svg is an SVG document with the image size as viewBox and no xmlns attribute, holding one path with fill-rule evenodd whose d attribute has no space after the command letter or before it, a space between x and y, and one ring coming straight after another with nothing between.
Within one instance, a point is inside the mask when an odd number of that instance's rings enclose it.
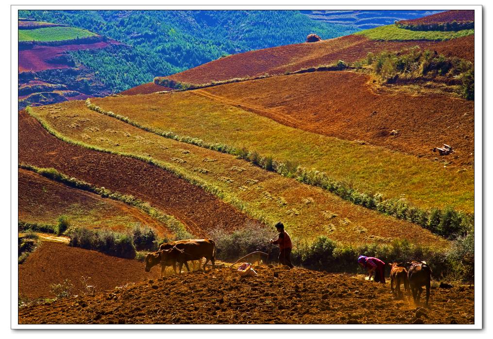
<instances>
[{"instance_id":1,"label":"smooth bare red-brown field at lower left, below the bushes","mask_svg":"<svg viewBox=\"0 0 493 339\"><path fill-rule=\"evenodd\" d=\"M83 294L81 277L90 276L88 284L96 291L113 289L160 275L160 268L144 271L144 263L112 257L97 251L71 247L62 242L43 241L28 259L19 265L19 296L29 299L53 298L51 284L69 279L74 294Z\"/></svg>"}]
</instances>

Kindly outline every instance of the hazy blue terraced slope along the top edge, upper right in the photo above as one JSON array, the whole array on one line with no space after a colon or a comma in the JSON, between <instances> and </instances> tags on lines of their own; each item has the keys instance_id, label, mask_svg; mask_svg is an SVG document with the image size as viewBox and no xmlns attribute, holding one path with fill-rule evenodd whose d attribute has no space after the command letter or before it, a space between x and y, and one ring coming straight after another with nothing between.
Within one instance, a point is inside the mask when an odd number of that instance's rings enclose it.
<instances>
[{"instance_id":1,"label":"hazy blue terraced slope along the top edge, upper right","mask_svg":"<svg viewBox=\"0 0 493 339\"><path fill-rule=\"evenodd\" d=\"M421 18L440 11L434 10L302 10L312 20L339 25L355 25L368 29L390 25L398 20Z\"/></svg>"}]
</instances>

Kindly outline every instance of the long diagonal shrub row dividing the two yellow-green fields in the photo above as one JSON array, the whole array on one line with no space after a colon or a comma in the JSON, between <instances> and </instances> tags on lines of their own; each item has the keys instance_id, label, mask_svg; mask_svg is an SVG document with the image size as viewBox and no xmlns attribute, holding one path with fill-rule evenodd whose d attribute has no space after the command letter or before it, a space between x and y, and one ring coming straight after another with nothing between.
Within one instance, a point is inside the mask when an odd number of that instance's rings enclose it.
<instances>
[{"instance_id":1,"label":"long diagonal shrub row dividing the two yellow-green fields","mask_svg":"<svg viewBox=\"0 0 493 339\"><path fill-rule=\"evenodd\" d=\"M115 117L144 131L214 151L235 155L237 158L246 160L264 170L273 171L282 176L294 178L299 182L320 187L334 193L344 200L374 209L380 213L398 219L410 221L443 237L456 238L462 236L474 223L473 214L467 214L455 210L452 207L446 207L443 210L437 208L426 210L413 206L412 203L405 198L385 199L380 193L371 194L359 192L357 189L352 188L350 184L330 178L325 172L307 170L295 162L274 160L272 156L261 156L258 152L249 151L245 147L235 148L220 143L212 144L203 141L202 139L178 136L173 132L160 131L152 127L141 125L128 117L123 117L111 111L105 111L101 107L92 104L89 99L86 100L86 105L89 109Z\"/></svg>"}]
</instances>

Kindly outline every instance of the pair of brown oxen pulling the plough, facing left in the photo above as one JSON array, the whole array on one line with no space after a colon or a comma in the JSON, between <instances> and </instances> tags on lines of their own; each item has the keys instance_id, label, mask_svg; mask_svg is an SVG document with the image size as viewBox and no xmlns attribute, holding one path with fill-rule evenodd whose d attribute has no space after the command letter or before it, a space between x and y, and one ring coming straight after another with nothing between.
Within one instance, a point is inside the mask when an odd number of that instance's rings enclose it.
<instances>
[{"instance_id":1,"label":"pair of brown oxen pulling the plough, facing left","mask_svg":"<svg viewBox=\"0 0 493 339\"><path fill-rule=\"evenodd\" d=\"M204 270L209 260L212 262L212 268L215 268L215 243L211 239L180 240L175 243L162 244L161 247L168 247L168 249L161 249L147 254L145 258L146 272L149 272L152 267L161 264L161 276L167 266L173 266L173 270L176 273L176 263L179 264L180 273L183 264L185 264L187 271L190 271L187 261L200 260L202 258L206 258Z\"/></svg>"}]
</instances>

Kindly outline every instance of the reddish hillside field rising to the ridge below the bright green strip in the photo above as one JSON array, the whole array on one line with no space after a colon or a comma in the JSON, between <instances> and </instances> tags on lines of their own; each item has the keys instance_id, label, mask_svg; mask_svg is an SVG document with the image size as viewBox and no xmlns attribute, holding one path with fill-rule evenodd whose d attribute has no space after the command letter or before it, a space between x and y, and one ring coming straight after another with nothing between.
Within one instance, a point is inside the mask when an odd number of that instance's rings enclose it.
<instances>
[{"instance_id":1,"label":"reddish hillside field rising to the ridge below the bright green strip","mask_svg":"<svg viewBox=\"0 0 493 339\"><path fill-rule=\"evenodd\" d=\"M351 43L354 41L354 43ZM347 46L345 44L347 43ZM431 41L385 41L368 40L361 35L347 35L317 43L288 45L252 51L228 58L221 58L181 73L167 76L166 79L185 83L203 84L211 81L225 81L235 78L255 77L262 74L282 74L285 71L296 71L303 68L317 67L336 63L339 60L354 62L364 58L368 52L379 53L383 50L399 51L408 47L420 46L433 49L448 57L458 57L474 62L474 34L451 40ZM317 50L320 48L320 50ZM286 53L282 53L286 49ZM296 52L297 58L289 55ZM258 63L256 60L262 60ZM271 66L269 66L271 65ZM152 92L169 91L169 87L146 83L127 91L123 95L149 94Z\"/></svg>"}]
</instances>

